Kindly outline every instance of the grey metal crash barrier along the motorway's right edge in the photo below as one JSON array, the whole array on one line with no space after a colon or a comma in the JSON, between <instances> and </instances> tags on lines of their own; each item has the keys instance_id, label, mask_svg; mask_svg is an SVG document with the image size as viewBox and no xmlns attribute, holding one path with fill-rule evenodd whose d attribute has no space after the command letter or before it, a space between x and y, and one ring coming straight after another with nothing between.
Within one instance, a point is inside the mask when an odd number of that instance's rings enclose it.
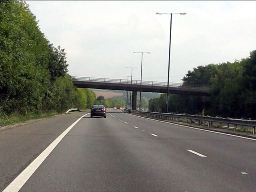
<instances>
[{"instance_id":1,"label":"grey metal crash barrier along the motorway's right edge","mask_svg":"<svg viewBox=\"0 0 256 192\"><path fill-rule=\"evenodd\" d=\"M177 121L177 122L184 123L185 120L188 120L190 124L194 122L199 126L206 124L208 127L210 127L212 126L213 123L216 123L215 127L218 126L219 129L222 129L226 125L227 128L234 129L234 132L236 132L238 126L240 126L239 129L249 130L249 131L252 131L252 134L255 134L256 120L221 118L221 117L199 116L199 115L188 115L188 114L146 112L146 111L136 111L136 110L129 110L129 112L139 116L145 116L149 118L161 119L166 121ZM233 127L230 127L230 125L233 125Z\"/></svg>"}]
</instances>

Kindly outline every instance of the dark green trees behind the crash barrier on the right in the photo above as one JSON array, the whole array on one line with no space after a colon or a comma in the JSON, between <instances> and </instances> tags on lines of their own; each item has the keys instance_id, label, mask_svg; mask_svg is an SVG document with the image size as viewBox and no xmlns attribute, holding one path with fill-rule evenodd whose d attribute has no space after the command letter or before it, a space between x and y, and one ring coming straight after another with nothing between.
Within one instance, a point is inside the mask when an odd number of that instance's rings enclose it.
<instances>
[{"instance_id":1,"label":"dark green trees behind the crash barrier on the right","mask_svg":"<svg viewBox=\"0 0 256 192\"><path fill-rule=\"evenodd\" d=\"M233 63L198 66L182 79L183 84L204 84L210 97L170 95L169 112L232 118L256 118L256 50ZM151 99L151 111L165 112L166 94Z\"/></svg>"}]
</instances>

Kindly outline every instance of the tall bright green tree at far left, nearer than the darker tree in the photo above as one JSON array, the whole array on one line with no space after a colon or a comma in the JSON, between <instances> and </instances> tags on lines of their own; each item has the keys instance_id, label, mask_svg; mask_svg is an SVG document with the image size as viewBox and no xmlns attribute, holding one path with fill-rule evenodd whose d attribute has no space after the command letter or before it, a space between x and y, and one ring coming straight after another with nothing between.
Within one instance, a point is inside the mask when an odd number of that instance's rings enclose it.
<instances>
[{"instance_id":1,"label":"tall bright green tree at far left, nearer than the darker tree","mask_svg":"<svg viewBox=\"0 0 256 192\"><path fill-rule=\"evenodd\" d=\"M47 41L22 1L0 1L0 108L42 110L48 90Z\"/></svg>"}]
</instances>

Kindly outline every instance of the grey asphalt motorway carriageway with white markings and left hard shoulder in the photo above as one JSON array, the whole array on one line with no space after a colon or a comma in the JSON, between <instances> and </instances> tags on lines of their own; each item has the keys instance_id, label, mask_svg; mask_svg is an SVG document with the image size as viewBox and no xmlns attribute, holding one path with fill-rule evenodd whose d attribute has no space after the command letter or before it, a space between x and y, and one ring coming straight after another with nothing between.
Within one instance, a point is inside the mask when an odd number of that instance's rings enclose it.
<instances>
[{"instance_id":1,"label":"grey asphalt motorway carriageway with white markings and left hard shoulder","mask_svg":"<svg viewBox=\"0 0 256 192\"><path fill-rule=\"evenodd\" d=\"M1 131L0 191L256 191L255 139L107 111Z\"/></svg>"}]
</instances>

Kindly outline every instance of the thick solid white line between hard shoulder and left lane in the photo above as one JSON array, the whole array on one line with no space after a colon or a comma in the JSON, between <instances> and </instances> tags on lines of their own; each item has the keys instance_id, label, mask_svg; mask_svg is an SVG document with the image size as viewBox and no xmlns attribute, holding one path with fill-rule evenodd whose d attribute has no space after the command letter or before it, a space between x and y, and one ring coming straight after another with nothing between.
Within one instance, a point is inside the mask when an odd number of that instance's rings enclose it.
<instances>
[{"instance_id":1,"label":"thick solid white line between hard shoulder and left lane","mask_svg":"<svg viewBox=\"0 0 256 192\"><path fill-rule=\"evenodd\" d=\"M90 113L88 113L90 114ZM48 155L54 150L58 143L68 132L86 115L83 115L60 134L32 163L30 163L2 192L18 192L28 181L37 168L44 162Z\"/></svg>"}]
</instances>

